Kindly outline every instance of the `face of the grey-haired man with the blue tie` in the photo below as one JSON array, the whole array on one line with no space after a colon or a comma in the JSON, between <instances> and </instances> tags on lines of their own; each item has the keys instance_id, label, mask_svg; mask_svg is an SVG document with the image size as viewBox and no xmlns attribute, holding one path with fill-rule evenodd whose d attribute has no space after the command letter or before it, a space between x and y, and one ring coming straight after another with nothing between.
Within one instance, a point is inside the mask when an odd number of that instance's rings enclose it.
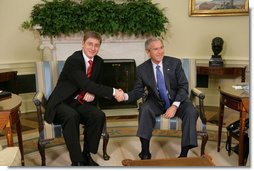
<instances>
[{"instance_id":1,"label":"face of the grey-haired man with the blue tie","mask_svg":"<svg viewBox=\"0 0 254 171\"><path fill-rule=\"evenodd\" d=\"M161 41L152 41L149 45L149 50L146 51L151 60L158 64L164 57L164 45Z\"/></svg>"}]
</instances>

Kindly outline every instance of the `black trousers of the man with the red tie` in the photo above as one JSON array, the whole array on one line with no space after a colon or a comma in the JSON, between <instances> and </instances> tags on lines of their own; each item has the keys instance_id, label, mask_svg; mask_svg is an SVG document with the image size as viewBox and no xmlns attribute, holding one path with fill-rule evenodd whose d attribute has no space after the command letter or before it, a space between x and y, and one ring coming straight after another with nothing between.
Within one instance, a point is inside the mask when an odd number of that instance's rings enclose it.
<instances>
[{"instance_id":1,"label":"black trousers of the man with the red tie","mask_svg":"<svg viewBox=\"0 0 254 171\"><path fill-rule=\"evenodd\" d=\"M80 124L85 125L84 149L97 153L101 133L105 122L105 113L96 106L77 101L70 105L61 103L56 107L54 124L61 124L63 136L72 162L82 162L84 158L80 147Z\"/></svg>"}]
</instances>

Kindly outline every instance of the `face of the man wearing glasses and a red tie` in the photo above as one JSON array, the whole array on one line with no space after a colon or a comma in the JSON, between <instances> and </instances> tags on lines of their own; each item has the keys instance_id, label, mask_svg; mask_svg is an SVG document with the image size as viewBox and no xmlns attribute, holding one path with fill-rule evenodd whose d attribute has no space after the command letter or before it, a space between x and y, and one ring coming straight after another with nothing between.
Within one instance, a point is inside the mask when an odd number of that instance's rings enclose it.
<instances>
[{"instance_id":1,"label":"face of the man wearing glasses and a red tie","mask_svg":"<svg viewBox=\"0 0 254 171\"><path fill-rule=\"evenodd\" d=\"M93 58L100 49L100 41L95 38L88 38L83 42L83 51L88 58Z\"/></svg>"}]
</instances>

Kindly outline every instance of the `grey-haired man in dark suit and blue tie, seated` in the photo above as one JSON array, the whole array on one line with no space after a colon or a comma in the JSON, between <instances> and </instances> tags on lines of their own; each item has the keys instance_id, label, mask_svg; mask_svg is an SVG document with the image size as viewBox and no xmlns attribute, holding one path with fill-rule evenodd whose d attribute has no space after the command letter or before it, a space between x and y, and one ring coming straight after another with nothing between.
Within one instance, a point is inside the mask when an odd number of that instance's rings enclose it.
<instances>
[{"instance_id":1,"label":"grey-haired man in dark suit and blue tie, seated","mask_svg":"<svg viewBox=\"0 0 254 171\"><path fill-rule=\"evenodd\" d=\"M188 99L188 80L177 58L164 56L164 45L160 38L150 38L145 43L147 61L137 67L134 89L117 101L131 102L141 98L145 88L146 101L139 109L137 136L141 141L141 159L150 159L150 139L155 126L155 117L175 116L182 119L182 143L179 157L187 157L189 149L197 146L196 121L198 112Z\"/></svg>"}]
</instances>

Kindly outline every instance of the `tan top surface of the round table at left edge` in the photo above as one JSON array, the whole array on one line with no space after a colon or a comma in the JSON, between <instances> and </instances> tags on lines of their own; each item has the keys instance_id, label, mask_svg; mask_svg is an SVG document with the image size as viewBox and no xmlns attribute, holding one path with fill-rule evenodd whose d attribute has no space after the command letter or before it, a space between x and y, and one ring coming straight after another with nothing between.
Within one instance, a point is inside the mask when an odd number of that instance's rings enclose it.
<instances>
[{"instance_id":1,"label":"tan top surface of the round table at left edge","mask_svg":"<svg viewBox=\"0 0 254 171\"><path fill-rule=\"evenodd\" d=\"M21 106L22 98L16 94L12 94L11 98L0 101L0 111L9 111Z\"/></svg>"}]
</instances>

